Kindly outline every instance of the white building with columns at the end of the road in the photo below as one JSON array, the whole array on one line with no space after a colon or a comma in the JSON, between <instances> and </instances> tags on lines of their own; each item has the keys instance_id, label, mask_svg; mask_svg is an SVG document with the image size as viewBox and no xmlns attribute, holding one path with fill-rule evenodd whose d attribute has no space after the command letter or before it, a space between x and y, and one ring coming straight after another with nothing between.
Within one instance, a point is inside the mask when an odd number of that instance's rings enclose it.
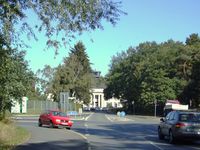
<instances>
[{"instance_id":1,"label":"white building with columns at the end of the road","mask_svg":"<svg viewBox=\"0 0 200 150\"><path fill-rule=\"evenodd\" d=\"M90 100L90 108L103 108L103 107L110 107L113 108L121 108L122 104L119 99L111 98L108 100L104 99L103 88L93 88L90 90L91 92L91 100Z\"/></svg>"}]
</instances>

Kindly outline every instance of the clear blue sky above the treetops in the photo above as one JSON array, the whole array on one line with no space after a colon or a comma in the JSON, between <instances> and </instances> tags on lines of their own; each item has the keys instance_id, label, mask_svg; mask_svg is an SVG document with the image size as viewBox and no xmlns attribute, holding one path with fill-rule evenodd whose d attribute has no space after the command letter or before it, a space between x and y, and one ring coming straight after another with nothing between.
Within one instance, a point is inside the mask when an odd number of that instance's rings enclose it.
<instances>
[{"instance_id":1,"label":"clear blue sky above the treetops","mask_svg":"<svg viewBox=\"0 0 200 150\"><path fill-rule=\"evenodd\" d=\"M160 43L169 39L185 42L192 33L200 35L199 6L199 0L123 0L122 10L128 15L122 15L115 27L103 22L104 30L85 32L71 46L82 41L93 63L92 68L105 75L112 56L130 46L136 47L146 41ZM43 51L43 36L39 35L38 38L37 42L29 41L31 48L27 50L26 59L30 68L36 72L45 64L56 67L62 63L69 48L60 49L59 55L54 58L53 50Z\"/></svg>"}]
</instances>

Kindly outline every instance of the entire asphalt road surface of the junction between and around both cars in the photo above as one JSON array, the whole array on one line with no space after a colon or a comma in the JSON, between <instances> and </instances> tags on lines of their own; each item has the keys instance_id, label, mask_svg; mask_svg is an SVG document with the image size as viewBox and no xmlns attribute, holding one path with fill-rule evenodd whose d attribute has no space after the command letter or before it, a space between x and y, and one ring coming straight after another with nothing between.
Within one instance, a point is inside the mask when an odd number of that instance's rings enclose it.
<instances>
[{"instance_id":1,"label":"entire asphalt road surface of the junction between and around both cars","mask_svg":"<svg viewBox=\"0 0 200 150\"><path fill-rule=\"evenodd\" d=\"M159 140L159 118L93 113L85 120L75 120L73 128L51 129L37 127L36 120L22 118L20 126L32 136L19 150L200 150L200 142L179 142L171 145Z\"/></svg>"}]
</instances>

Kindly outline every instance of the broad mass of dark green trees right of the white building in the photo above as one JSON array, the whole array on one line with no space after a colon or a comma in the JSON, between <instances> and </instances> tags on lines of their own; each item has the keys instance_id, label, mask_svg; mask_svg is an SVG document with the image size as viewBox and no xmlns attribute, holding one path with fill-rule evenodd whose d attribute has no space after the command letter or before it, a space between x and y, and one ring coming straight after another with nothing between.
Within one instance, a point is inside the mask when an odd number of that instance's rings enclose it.
<instances>
[{"instance_id":1,"label":"broad mass of dark green trees right of the white building","mask_svg":"<svg viewBox=\"0 0 200 150\"><path fill-rule=\"evenodd\" d=\"M157 100L177 99L199 107L200 38L192 34L181 42L146 42L113 57L106 76L105 97L127 100L129 110L147 107ZM137 110L137 108L136 108Z\"/></svg>"}]
</instances>

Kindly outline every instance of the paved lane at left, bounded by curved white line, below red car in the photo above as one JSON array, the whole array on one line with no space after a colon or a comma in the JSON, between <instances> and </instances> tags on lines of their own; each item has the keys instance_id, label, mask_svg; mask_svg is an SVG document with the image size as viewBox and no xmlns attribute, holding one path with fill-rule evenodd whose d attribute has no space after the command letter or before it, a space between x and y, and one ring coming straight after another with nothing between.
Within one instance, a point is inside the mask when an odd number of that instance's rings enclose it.
<instances>
[{"instance_id":1,"label":"paved lane at left, bounded by curved white line, below red car","mask_svg":"<svg viewBox=\"0 0 200 150\"><path fill-rule=\"evenodd\" d=\"M38 117L20 117L17 124L31 132L27 142L16 150L88 150L87 140L81 134L65 128L38 127Z\"/></svg>"}]
</instances>

